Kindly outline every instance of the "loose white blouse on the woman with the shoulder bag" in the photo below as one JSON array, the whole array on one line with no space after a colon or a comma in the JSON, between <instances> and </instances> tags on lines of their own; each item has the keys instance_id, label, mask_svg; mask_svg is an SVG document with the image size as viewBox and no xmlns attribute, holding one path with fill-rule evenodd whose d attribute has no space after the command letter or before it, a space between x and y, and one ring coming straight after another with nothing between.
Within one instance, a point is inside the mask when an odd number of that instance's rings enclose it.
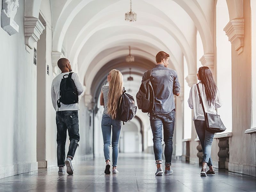
<instances>
[{"instance_id":1,"label":"loose white blouse on the woman with the shoulder bag","mask_svg":"<svg viewBox=\"0 0 256 192\"><path fill-rule=\"evenodd\" d=\"M199 85L199 90L200 90L201 97L203 100L205 113L216 114L215 108L220 108L222 106L222 101L220 99L219 90L217 89L215 105L211 104L211 106L209 106L207 98L206 98L206 94L205 94L205 89L203 91L203 84L199 83L198 85ZM202 105L199 102L199 95L198 95L196 84L193 84L190 89L189 98L188 98L188 106L191 109L194 109L194 119L204 121L204 111L203 111Z\"/></svg>"}]
</instances>

